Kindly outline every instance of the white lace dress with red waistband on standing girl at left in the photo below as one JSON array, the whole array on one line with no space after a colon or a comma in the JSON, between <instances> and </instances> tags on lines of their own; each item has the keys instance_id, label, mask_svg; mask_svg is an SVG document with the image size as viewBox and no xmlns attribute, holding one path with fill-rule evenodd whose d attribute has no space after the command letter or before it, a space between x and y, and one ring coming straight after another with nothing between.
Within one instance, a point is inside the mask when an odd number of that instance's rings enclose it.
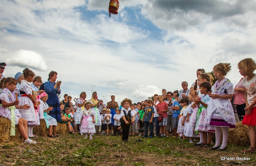
<instances>
[{"instance_id":1,"label":"white lace dress with red waistband on standing girl at left","mask_svg":"<svg viewBox=\"0 0 256 166\"><path fill-rule=\"evenodd\" d=\"M21 97L19 99L19 105L29 105L30 108L27 109L19 109L21 117L27 120L27 125L40 125L39 119L36 114L36 110L34 108L33 102L28 98L27 95L32 95L32 89L29 83L25 80L21 81L20 85L20 94ZM39 123L38 123L39 122Z\"/></svg>"}]
</instances>

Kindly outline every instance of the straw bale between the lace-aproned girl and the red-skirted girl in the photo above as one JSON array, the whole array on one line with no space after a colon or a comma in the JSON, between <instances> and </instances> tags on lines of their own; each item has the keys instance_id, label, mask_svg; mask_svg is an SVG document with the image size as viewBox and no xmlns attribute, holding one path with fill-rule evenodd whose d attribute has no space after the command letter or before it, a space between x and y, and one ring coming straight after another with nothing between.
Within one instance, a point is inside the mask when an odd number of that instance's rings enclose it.
<instances>
[{"instance_id":1,"label":"straw bale between the lace-aproned girl and the red-skirted girl","mask_svg":"<svg viewBox=\"0 0 256 166\"><path fill-rule=\"evenodd\" d=\"M242 125L242 121L237 122L234 129L229 129L228 143L236 146L250 145L248 126Z\"/></svg>"}]
</instances>

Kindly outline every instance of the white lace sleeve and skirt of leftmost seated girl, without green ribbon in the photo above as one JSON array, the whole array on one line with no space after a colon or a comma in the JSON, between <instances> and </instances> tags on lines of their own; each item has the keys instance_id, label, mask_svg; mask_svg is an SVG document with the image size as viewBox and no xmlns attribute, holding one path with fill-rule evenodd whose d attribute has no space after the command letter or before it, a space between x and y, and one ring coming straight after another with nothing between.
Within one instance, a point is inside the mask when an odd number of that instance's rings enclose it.
<instances>
[{"instance_id":1,"label":"white lace sleeve and skirt of leftmost seated girl, without green ribbon","mask_svg":"<svg viewBox=\"0 0 256 166\"><path fill-rule=\"evenodd\" d=\"M10 103L5 93L0 94L0 100L5 101L6 103ZM15 125L18 125L19 118L21 118L21 114L19 113L18 109L14 109L14 112L15 112ZM0 106L0 117L9 118L11 120L11 109Z\"/></svg>"}]
</instances>

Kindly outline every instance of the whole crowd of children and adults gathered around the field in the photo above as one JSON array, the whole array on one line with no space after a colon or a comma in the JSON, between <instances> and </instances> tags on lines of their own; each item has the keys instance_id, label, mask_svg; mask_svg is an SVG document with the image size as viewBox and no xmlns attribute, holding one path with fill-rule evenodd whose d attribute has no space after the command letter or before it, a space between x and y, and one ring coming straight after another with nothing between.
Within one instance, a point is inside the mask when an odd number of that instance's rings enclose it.
<instances>
[{"instance_id":1,"label":"whole crowd of children and adults gathered around the field","mask_svg":"<svg viewBox=\"0 0 256 166\"><path fill-rule=\"evenodd\" d=\"M82 91L79 98L64 95L59 101L61 81L56 82L57 73L51 71L48 81L42 83L28 68L18 72L14 78L4 77L6 63L0 63L0 116L11 120L11 135L18 130L27 144L36 144L32 137L33 127L40 125L44 119L49 132L48 137L58 137L56 126L66 123L70 134L85 135L85 139L93 139L94 134L122 136L128 142L129 136L154 136L188 139L195 146L209 150L223 151L227 149L229 129L235 128L236 122L249 126L250 147L242 153L256 151L256 69L251 58L238 63L239 73L243 76L233 86L225 76L231 70L230 63L218 63L213 67L214 77L197 70L197 80L189 86L181 83L182 90L173 92L162 90L162 94L154 94L152 99L132 103L125 98L119 105L115 96L104 104L93 92L87 100ZM220 136L222 130L222 144ZM211 146L213 133L215 145ZM88 136L89 134L89 136Z\"/></svg>"}]
</instances>

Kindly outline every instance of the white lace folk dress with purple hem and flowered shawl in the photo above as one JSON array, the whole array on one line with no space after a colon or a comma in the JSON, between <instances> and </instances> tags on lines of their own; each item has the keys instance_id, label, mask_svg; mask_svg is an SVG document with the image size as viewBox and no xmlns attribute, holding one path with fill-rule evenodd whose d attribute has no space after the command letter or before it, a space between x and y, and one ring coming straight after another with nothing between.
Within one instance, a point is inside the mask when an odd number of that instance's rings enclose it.
<instances>
[{"instance_id":1,"label":"white lace folk dress with purple hem and flowered shawl","mask_svg":"<svg viewBox=\"0 0 256 166\"><path fill-rule=\"evenodd\" d=\"M213 94L233 94L233 84L228 78L217 80L213 86ZM216 127L235 128L235 115L229 99L210 98L207 107L208 124Z\"/></svg>"}]
</instances>

